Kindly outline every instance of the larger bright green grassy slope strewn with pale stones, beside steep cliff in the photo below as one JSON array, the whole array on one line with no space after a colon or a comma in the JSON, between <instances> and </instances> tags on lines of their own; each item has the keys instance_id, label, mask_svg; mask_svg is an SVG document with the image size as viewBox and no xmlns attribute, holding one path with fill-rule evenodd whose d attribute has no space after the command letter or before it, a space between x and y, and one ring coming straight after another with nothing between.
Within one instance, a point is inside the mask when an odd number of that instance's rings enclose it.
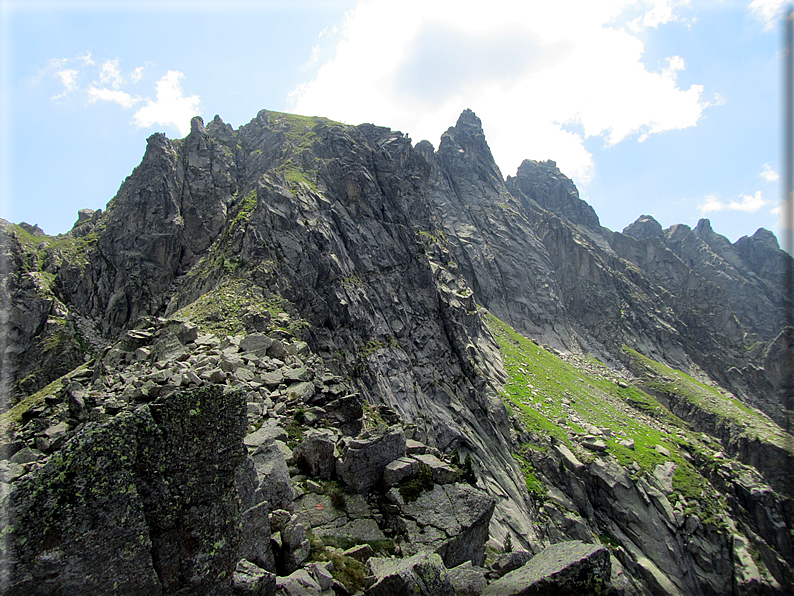
<instances>
[{"instance_id":1,"label":"larger bright green grassy slope strewn with pale stones, beside steep cliff","mask_svg":"<svg viewBox=\"0 0 794 596\"><path fill-rule=\"evenodd\" d=\"M591 362L590 370L600 368L604 374L588 374L496 317L488 315L486 323L499 343L508 374L503 397L509 408L521 413L527 430L551 435L575 447L573 433L587 432L590 424L608 428L612 431L611 437L604 437L608 453L627 467L637 462L640 470L634 475L652 473L658 464L674 461L678 467L673 478L676 492L671 500L680 495L689 503L697 501L700 513L718 523L724 502L699 471L701 466L713 463L700 433L692 432L687 423L637 387L619 386L609 378L603 365ZM622 439L633 439L634 449L620 445ZM668 449L671 457L661 455L657 445ZM522 447L524 451L534 448L537 447L531 444ZM530 491L542 494L526 458L522 454L516 458Z\"/></svg>"}]
</instances>

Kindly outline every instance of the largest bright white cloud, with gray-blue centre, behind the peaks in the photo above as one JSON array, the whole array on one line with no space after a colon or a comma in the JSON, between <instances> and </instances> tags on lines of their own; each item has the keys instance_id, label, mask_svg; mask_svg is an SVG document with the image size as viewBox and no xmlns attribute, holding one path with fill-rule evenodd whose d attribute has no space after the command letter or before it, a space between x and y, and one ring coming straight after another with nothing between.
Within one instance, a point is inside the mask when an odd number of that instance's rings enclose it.
<instances>
[{"instance_id":1,"label":"largest bright white cloud, with gray-blue centre, behind the peaks","mask_svg":"<svg viewBox=\"0 0 794 596\"><path fill-rule=\"evenodd\" d=\"M632 9L635 28L658 26L676 20L678 4L361 0L333 57L290 98L297 113L388 125L434 145L468 107L505 173L550 158L581 183L593 169L587 138L613 145L700 119L703 87L677 83L684 60L649 70L626 20Z\"/></svg>"}]
</instances>

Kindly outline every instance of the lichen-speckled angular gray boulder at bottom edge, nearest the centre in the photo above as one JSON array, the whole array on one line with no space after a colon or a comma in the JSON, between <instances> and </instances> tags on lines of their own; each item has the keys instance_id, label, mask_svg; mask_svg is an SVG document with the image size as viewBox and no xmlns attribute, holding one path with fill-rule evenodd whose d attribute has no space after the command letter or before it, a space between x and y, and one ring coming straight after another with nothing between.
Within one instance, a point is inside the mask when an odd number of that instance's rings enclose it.
<instances>
[{"instance_id":1,"label":"lichen-speckled angular gray boulder at bottom edge, nearest the centre","mask_svg":"<svg viewBox=\"0 0 794 596\"><path fill-rule=\"evenodd\" d=\"M447 570L437 554L406 559L371 558L367 570L373 584L367 596L455 596Z\"/></svg>"}]
</instances>

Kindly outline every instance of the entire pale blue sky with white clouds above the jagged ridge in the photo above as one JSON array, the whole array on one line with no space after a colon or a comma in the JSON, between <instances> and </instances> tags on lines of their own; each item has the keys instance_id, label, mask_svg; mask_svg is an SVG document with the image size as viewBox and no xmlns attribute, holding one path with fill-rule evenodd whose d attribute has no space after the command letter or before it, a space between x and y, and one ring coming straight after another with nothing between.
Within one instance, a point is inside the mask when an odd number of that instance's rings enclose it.
<instances>
[{"instance_id":1,"label":"entire pale blue sky with white clouds above the jagged ridge","mask_svg":"<svg viewBox=\"0 0 794 596\"><path fill-rule=\"evenodd\" d=\"M602 225L778 232L779 0L0 0L0 217L63 233L154 132L260 109L553 159Z\"/></svg>"}]
</instances>

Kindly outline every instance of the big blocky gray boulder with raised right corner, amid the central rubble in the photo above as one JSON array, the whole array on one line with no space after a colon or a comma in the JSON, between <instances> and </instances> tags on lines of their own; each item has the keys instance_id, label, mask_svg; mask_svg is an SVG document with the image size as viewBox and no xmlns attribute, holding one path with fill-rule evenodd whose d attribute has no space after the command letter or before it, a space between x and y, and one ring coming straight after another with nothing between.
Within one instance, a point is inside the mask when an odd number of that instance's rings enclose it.
<instances>
[{"instance_id":1,"label":"big blocky gray boulder with raised right corner, amid the central rubble","mask_svg":"<svg viewBox=\"0 0 794 596\"><path fill-rule=\"evenodd\" d=\"M399 427L367 439L346 439L336 474L358 492L372 490L383 479L386 466L405 455L405 435Z\"/></svg>"}]
</instances>

